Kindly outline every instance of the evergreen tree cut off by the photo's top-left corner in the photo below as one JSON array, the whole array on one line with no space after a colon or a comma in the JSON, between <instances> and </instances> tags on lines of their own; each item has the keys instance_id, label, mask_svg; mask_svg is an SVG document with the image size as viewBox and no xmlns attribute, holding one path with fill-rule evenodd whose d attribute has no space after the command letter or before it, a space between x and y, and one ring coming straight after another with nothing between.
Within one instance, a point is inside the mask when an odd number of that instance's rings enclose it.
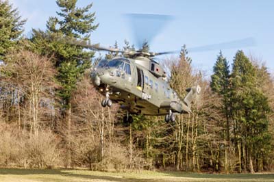
<instances>
[{"instance_id":1,"label":"evergreen tree cut off by the photo's top-left corner","mask_svg":"<svg viewBox=\"0 0 274 182\"><path fill-rule=\"evenodd\" d=\"M18 10L13 9L8 0L0 1L0 60L16 44L23 32L25 20L21 20Z\"/></svg>"}]
</instances>

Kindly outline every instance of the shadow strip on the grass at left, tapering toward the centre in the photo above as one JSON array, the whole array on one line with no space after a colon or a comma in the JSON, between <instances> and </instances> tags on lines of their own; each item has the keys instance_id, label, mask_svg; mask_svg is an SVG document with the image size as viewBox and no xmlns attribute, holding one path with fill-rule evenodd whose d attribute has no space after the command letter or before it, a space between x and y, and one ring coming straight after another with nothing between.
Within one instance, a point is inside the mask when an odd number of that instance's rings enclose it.
<instances>
[{"instance_id":1,"label":"shadow strip on the grass at left, tapering toward the centre","mask_svg":"<svg viewBox=\"0 0 274 182\"><path fill-rule=\"evenodd\" d=\"M75 177L79 179L98 179L98 180L105 180L105 181L138 181L138 182L160 182L160 179L142 179L141 177L138 179L130 178L130 177L112 177L111 174L106 173L102 175L99 174L76 174L73 171L77 170L67 170L67 169L56 169L56 170L39 170L39 169L0 169L0 175L30 175L30 174L47 174L49 175L60 175L62 177ZM82 170L83 171L83 170ZM115 175L115 173L113 173Z\"/></svg>"}]
</instances>

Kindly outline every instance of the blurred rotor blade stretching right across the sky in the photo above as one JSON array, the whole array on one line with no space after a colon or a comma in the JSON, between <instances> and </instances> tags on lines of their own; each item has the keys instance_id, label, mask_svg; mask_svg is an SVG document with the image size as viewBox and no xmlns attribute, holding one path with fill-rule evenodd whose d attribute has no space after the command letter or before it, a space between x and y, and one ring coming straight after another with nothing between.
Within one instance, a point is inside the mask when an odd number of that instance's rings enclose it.
<instances>
[{"instance_id":1,"label":"blurred rotor blade stretching right across the sky","mask_svg":"<svg viewBox=\"0 0 274 182\"><path fill-rule=\"evenodd\" d=\"M240 40L233 40L230 42L223 42L219 44L210 44L201 47L192 47L187 49L188 52L202 52L202 51L213 51L213 50L224 50L224 49L238 49L243 47L256 46L256 40L254 38L244 38Z\"/></svg>"}]
</instances>

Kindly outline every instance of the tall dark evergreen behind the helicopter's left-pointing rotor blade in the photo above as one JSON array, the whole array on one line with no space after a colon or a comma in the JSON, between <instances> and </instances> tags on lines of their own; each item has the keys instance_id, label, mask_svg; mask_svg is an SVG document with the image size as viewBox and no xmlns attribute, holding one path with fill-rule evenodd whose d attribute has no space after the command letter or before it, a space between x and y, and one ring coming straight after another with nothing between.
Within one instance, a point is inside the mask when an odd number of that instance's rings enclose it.
<instances>
[{"instance_id":1,"label":"tall dark evergreen behind the helicopter's left-pointing rotor blade","mask_svg":"<svg viewBox=\"0 0 274 182\"><path fill-rule=\"evenodd\" d=\"M59 40L66 39L88 40L90 33L98 25L94 25L95 13L90 13L92 3L84 8L77 8L77 0L57 0L61 11L58 17L50 17L47 30L34 30L32 41L36 51L42 55L54 55L55 66L58 69L58 81L62 88L59 95L64 109L70 107L71 93L75 90L77 80L90 68L93 52L84 51L83 47L66 44Z\"/></svg>"}]
</instances>

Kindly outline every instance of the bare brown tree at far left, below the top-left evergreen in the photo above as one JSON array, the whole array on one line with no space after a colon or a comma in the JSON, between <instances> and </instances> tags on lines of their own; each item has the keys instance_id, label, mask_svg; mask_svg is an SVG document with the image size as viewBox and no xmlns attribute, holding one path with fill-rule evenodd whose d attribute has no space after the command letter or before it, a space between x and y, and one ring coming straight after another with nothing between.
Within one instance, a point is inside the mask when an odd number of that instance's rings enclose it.
<instances>
[{"instance_id":1,"label":"bare brown tree at far left, below the top-left evergreen","mask_svg":"<svg viewBox=\"0 0 274 182\"><path fill-rule=\"evenodd\" d=\"M18 120L21 120L20 104L24 102L25 108L29 107L25 109L25 120L32 120L30 130L37 134L43 114L49 111L53 104L49 100L53 97L52 91L55 86L55 70L51 59L19 49L7 55L1 72L5 75L5 83L11 83L14 87Z\"/></svg>"}]
</instances>

